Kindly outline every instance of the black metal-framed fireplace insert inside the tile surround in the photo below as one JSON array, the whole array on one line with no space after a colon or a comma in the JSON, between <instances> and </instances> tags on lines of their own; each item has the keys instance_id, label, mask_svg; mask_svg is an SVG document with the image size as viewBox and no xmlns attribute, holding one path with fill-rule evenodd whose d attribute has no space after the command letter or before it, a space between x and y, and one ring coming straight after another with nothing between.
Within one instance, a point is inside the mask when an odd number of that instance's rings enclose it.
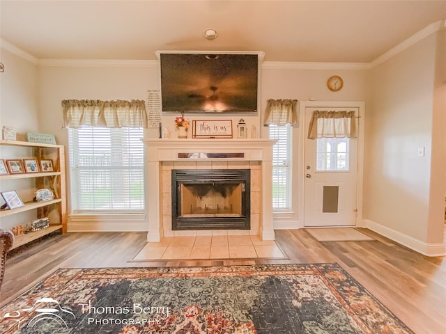
<instances>
[{"instance_id":1,"label":"black metal-framed fireplace insert inside the tile surround","mask_svg":"<svg viewBox=\"0 0 446 334\"><path fill-rule=\"evenodd\" d=\"M249 230L249 169L171 170L172 230Z\"/></svg>"}]
</instances>

